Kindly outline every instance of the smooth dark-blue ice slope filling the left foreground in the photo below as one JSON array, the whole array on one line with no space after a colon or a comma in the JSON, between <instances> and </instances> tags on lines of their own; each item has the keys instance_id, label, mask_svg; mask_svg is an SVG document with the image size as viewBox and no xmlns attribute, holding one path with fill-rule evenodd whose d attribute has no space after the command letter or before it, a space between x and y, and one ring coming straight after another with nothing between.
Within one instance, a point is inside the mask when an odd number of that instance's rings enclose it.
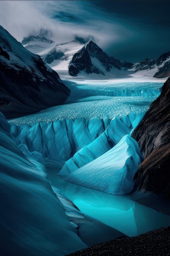
<instances>
[{"instance_id":1,"label":"smooth dark-blue ice slope filling the left foreground","mask_svg":"<svg viewBox=\"0 0 170 256\"><path fill-rule=\"evenodd\" d=\"M2 255L64 256L86 248L51 189L43 165L26 157L17 143L0 113Z\"/></svg>"}]
</instances>

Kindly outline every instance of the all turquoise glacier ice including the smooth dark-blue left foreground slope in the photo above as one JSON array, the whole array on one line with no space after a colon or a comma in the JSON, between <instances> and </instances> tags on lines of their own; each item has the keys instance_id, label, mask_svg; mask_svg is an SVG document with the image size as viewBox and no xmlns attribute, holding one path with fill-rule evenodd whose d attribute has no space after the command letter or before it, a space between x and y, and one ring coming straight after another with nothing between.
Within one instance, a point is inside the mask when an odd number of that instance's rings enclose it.
<instances>
[{"instance_id":1,"label":"all turquoise glacier ice including the smooth dark-blue left foreground slope","mask_svg":"<svg viewBox=\"0 0 170 256\"><path fill-rule=\"evenodd\" d=\"M42 255L43 251L44 256L54 252L62 256L87 247L77 235L76 224L68 221L79 213L65 211L66 203L47 180L46 168L57 167L58 177L94 191L124 195L133 189L133 177L143 161L130 135L160 94L161 83L138 87L131 83L126 92L121 83L68 81L66 86L71 95L62 106L8 122L0 115L4 179L0 216L7 234L2 249L9 254L8 243L20 255Z\"/></svg>"}]
</instances>

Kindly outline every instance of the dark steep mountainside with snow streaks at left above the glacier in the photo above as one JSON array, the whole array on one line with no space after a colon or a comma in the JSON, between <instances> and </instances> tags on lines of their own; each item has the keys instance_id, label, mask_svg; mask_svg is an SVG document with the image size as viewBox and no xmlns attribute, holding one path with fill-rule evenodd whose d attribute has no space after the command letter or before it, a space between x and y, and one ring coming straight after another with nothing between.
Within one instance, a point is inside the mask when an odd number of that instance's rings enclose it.
<instances>
[{"instance_id":1,"label":"dark steep mountainside with snow streaks at left above the glacier","mask_svg":"<svg viewBox=\"0 0 170 256\"><path fill-rule=\"evenodd\" d=\"M42 59L0 26L0 111L7 119L61 105L70 90Z\"/></svg>"}]
</instances>

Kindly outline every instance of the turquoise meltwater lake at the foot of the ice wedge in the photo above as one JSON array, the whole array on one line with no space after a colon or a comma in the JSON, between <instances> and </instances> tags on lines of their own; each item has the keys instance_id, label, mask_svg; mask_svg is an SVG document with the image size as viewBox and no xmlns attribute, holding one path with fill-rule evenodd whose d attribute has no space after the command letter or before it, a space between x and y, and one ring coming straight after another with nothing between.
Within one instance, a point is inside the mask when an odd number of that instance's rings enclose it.
<instances>
[{"instance_id":1,"label":"turquoise meltwater lake at the foot of the ice wedge","mask_svg":"<svg viewBox=\"0 0 170 256\"><path fill-rule=\"evenodd\" d=\"M129 195L111 195L66 182L56 175L57 168L47 168L47 171L51 185L60 189L80 211L127 236L170 226L170 216L134 202Z\"/></svg>"}]
</instances>

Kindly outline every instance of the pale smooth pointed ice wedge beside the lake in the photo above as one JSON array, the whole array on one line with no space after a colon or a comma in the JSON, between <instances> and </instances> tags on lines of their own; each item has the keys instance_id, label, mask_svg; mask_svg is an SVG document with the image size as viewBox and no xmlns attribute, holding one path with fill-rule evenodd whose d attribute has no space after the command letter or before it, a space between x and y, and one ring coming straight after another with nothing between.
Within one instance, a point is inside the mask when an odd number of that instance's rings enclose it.
<instances>
[{"instance_id":1,"label":"pale smooth pointed ice wedge beside the lake","mask_svg":"<svg viewBox=\"0 0 170 256\"><path fill-rule=\"evenodd\" d=\"M132 191L133 177L142 161L137 141L125 135L106 153L62 177L92 189L125 195ZM62 170L58 175L62 175Z\"/></svg>"}]
</instances>

